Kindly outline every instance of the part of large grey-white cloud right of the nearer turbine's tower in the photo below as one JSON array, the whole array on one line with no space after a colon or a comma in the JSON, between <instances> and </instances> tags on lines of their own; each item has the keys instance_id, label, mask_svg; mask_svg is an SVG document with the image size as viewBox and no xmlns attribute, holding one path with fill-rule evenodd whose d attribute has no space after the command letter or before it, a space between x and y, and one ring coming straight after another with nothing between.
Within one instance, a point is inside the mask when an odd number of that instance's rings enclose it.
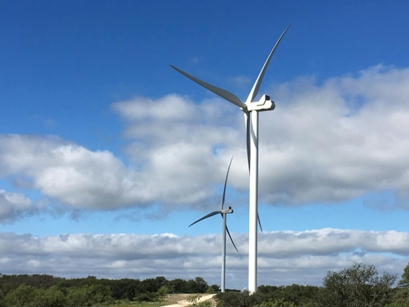
<instances>
[{"instance_id":1,"label":"part of large grey-white cloud right of the nearer turbine's tower","mask_svg":"<svg viewBox=\"0 0 409 307\"><path fill-rule=\"evenodd\" d=\"M382 65L321 86L301 78L277 87L274 120L263 114L260 121L261 178L275 187L261 187L265 199L338 201L389 189L402 195L409 187L407 94L409 69Z\"/></svg>"}]
</instances>

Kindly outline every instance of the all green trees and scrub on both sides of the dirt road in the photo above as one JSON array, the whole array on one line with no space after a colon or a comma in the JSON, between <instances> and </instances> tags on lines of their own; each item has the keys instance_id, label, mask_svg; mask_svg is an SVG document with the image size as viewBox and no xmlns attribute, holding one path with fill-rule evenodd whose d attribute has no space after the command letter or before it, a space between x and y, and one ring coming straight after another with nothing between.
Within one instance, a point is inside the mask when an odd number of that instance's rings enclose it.
<instances>
[{"instance_id":1,"label":"all green trees and scrub on both sides of the dirt road","mask_svg":"<svg viewBox=\"0 0 409 307\"><path fill-rule=\"evenodd\" d=\"M396 279L359 263L329 271L322 287L261 285L250 295L246 291L220 293L218 285L209 286L201 277L109 280L0 274L0 307L159 307L171 303L164 301L168 294L183 295L175 293L193 294L187 300L194 307L212 305L198 303L198 293L216 293L218 307L409 307L409 264L398 287L392 288Z\"/></svg>"}]
</instances>

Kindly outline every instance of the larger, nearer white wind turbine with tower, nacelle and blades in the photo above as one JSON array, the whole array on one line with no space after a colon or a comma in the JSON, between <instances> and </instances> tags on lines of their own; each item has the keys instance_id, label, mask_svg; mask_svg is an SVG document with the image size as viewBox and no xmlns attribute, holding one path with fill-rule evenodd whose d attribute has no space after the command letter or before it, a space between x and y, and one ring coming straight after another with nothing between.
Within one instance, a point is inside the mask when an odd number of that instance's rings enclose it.
<instances>
[{"instance_id":1,"label":"larger, nearer white wind turbine with tower, nacelle and blades","mask_svg":"<svg viewBox=\"0 0 409 307\"><path fill-rule=\"evenodd\" d=\"M261 69L256 82L252 87L246 101L241 101L236 95L223 90L219 87L206 83L187 74L186 72L180 70L179 68L171 65L178 72L187 76L192 81L202 85L209 91L217 94L218 96L226 99L227 101L237 105L244 112L244 119L246 125L246 135L247 135L247 160L249 164L250 171L250 188L249 188L249 291L253 293L257 289L257 190L258 190L258 112L274 110L275 104L270 100L267 95L261 96L260 100L253 101L257 96L258 90L260 89L261 81L267 69L268 63L274 54L277 46L279 45L281 38L283 38L285 32L288 30L290 25L283 31L277 43L274 45L272 51L270 52L267 60L265 61L263 68ZM260 220L258 220L260 223ZM261 225L260 225L261 227Z\"/></svg>"}]
</instances>

